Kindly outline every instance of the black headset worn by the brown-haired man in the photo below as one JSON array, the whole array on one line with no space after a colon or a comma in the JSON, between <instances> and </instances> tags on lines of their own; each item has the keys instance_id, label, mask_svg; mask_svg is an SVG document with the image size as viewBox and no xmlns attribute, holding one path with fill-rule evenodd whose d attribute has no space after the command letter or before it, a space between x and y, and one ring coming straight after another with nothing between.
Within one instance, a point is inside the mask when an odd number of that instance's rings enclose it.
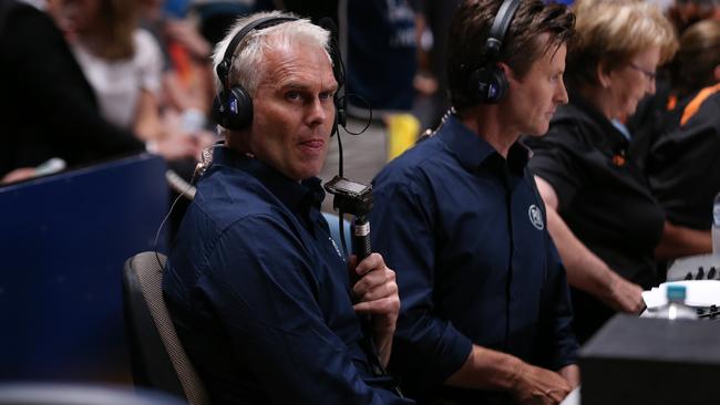
<instances>
[{"instance_id":1,"label":"black headset worn by the brown-haired man","mask_svg":"<svg viewBox=\"0 0 720 405\"><path fill-rule=\"evenodd\" d=\"M487 41L485 41L483 50L485 64L470 74L469 86L473 90L473 96L479 103L495 104L507 93L507 77L496 63L503 48L503 40L520 2L521 0L503 1L490 29Z\"/></svg>"}]
</instances>

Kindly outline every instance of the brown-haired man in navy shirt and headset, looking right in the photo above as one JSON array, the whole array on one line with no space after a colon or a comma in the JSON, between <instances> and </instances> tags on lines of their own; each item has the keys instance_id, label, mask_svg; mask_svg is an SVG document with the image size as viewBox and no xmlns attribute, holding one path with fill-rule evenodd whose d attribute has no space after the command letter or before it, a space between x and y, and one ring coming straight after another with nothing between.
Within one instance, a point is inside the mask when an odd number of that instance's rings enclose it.
<instances>
[{"instance_id":1,"label":"brown-haired man in navy shirt and headset, looking right","mask_svg":"<svg viewBox=\"0 0 720 405\"><path fill-rule=\"evenodd\" d=\"M372 246L402 298L391 371L420 403L557 404L578 384L565 270L517 142L567 102L573 23L539 0L463 1L454 111L373 180Z\"/></svg>"}]
</instances>

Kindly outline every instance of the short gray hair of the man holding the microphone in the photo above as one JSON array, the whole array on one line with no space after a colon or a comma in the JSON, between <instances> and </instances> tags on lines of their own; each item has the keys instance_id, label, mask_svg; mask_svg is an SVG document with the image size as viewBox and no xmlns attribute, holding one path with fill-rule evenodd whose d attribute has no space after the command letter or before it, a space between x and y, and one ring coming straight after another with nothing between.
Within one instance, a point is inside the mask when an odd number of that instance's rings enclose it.
<instances>
[{"instance_id":1,"label":"short gray hair of the man holding the microphone","mask_svg":"<svg viewBox=\"0 0 720 405\"><path fill-rule=\"evenodd\" d=\"M258 12L238 19L227 35L215 46L213 68L217 69L217 65L223 62L223 56L228 44L245 25L265 17L297 18L297 15L291 13L270 11ZM311 23L307 19L282 22L261 30L253 30L245 35L234 51L234 58L228 73L229 86L240 84L250 96L255 95L257 85L265 72L261 66L265 52L275 48L291 48L297 43L317 45L323 49L328 55L328 60L332 63L332 58L330 58L329 53L330 33L327 30ZM215 75L215 87L218 92L224 89L217 75Z\"/></svg>"}]
</instances>

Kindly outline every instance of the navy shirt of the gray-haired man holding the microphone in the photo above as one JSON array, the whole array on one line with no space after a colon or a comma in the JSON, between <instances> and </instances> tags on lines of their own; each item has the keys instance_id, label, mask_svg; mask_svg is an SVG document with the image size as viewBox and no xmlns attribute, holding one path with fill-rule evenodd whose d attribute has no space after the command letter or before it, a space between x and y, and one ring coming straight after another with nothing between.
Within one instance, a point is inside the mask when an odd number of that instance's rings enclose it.
<instances>
[{"instance_id":1,"label":"navy shirt of the gray-haired man holding the microphone","mask_svg":"<svg viewBox=\"0 0 720 405\"><path fill-rule=\"evenodd\" d=\"M214 404L404 404L373 377L348 270L297 183L217 148L163 280L178 335Z\"/></svg>"}]
</instances>

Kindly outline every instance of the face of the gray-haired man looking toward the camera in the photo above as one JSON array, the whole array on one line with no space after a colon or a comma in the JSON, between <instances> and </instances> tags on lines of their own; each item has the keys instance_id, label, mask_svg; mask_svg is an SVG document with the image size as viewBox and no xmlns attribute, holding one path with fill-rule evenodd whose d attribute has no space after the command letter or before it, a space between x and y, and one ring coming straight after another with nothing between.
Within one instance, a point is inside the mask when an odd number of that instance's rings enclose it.
<instances>
[{"instance_id":1,"label":"face of the gray-haired man looking toward the camera","mask_svg":"<svg viewBox=\"0 0 720 405\"><path fill-rule=\"evenodd\" d=\"M266 53L253 97L249 148L289 178L320 173L335 120L337 82L327 53L296 44Z\"/></svg>"}]
</instances>

